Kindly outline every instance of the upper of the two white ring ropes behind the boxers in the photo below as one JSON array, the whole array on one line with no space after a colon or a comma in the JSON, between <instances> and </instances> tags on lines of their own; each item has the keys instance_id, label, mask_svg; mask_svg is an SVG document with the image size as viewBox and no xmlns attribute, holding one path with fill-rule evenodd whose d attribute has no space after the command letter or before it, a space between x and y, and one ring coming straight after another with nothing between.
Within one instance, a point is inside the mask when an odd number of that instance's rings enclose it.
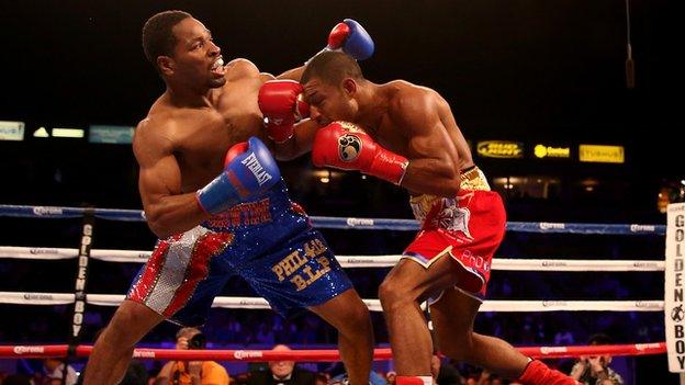
<instances>
[{"instance_id":1,"label":"upper of the two white ring ropes behind the boxers","mask_svg":"<svg viewBox=\"0 0 685 385\"><path fill-rule=\"evenodd\" d=\"M145 263L150 251L91 249L90 257L106 262ZM76 258L78 249L0 246L0 259L59 260ZM400 260L393 256L337 256L343 268L392 268ZM568 259L493 259L493 270L507 271L664 271L665 262L656 260L568 260Z\"/></svg>"}]
</instances>

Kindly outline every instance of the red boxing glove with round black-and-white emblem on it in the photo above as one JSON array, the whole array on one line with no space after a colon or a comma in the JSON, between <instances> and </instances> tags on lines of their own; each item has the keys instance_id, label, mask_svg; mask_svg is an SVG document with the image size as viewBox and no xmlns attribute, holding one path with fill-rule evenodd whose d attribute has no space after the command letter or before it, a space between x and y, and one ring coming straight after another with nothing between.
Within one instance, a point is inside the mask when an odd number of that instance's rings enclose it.
<instances>
[{"instance_id":1,"label":"red boxing glove with round black-and-white emblem on it","mask_svg":"<svg viewBox=\"0 0 685 385\"><path fill-rule=\"evenodd\" d=\"M369 175L402 183L409 161L386 150L352 123L334 122L314 137L312 162L316 167L359 170Z\"/></svg>"}]
</instances>

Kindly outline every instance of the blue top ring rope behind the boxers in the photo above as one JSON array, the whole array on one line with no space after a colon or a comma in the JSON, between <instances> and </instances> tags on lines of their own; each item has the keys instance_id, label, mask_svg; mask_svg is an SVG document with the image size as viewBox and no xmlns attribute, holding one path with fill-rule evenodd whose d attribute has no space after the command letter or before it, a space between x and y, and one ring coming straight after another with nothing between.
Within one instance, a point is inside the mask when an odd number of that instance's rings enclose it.
<instances>
[{"instance_id":1,"label":"blue top ring rope behind the boxers","mask_svg":"<svg viewBox=\"0 0 685 385\"><path fill-rule=\"evenodd\" d=\"M87 208L60 206L0 205L0 216L27 218L75 218L82 216ZM94 208L97 218L125 222L144 222L145 213L139 210ZM318 228L362 229L362 230L418 230L415 219L356 218L311 216ZM507 230L518 233L551 234L604 234L604 235L665 235L665 225L639 224L582 224L552 222L508 222Z\"/></svg>"}]
</instances>

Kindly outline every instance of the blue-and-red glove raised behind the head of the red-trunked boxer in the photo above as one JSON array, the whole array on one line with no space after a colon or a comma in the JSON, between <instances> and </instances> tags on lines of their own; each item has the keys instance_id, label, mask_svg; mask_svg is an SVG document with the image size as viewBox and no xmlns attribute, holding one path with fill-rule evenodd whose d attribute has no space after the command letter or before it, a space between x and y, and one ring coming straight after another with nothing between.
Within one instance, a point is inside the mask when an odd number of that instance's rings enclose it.
<instances>
[{"instance_id":1,"label":"blue-and-red glove raised behind the head of the red-trunked boxer","mask_svg":"<svg viewBox=\"0 0 685 385\"><path fill-rule=\"evenodd\" d=\"M374 46L371 35L361 24L351 19L345 19L343 23L338 23L330 31L326 48L330 50L343 49L356 60L363 60L373 55Z\"/></svg>"}]
</instances>

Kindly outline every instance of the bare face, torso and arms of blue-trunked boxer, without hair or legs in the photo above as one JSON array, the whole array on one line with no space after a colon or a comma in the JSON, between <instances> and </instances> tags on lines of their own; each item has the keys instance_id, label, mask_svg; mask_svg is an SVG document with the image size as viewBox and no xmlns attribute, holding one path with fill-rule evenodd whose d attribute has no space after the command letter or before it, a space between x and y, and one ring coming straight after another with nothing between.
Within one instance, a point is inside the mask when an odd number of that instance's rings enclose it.
<instances>
[{"instance_id":1,"label":"bare face, torso and arms of blue-trunked boxer, without hair or legs","mask_svg":"<svg viewBox=\"0 0 685 385\"><path fill-rule=\"evenodd\" d=\"M148 226L159 237L182 233L209 215L195 191L223 170L231 146L250 136L262 139L259 88L274 77L247 59L216 66L221 49L198 20L175 26L179 43L173 63L159 59L169 72L167 91L136 128L133 150L141 168L138 189ZM302 68L279 76L299 79Z\"/></svg>"}]
</instances>

